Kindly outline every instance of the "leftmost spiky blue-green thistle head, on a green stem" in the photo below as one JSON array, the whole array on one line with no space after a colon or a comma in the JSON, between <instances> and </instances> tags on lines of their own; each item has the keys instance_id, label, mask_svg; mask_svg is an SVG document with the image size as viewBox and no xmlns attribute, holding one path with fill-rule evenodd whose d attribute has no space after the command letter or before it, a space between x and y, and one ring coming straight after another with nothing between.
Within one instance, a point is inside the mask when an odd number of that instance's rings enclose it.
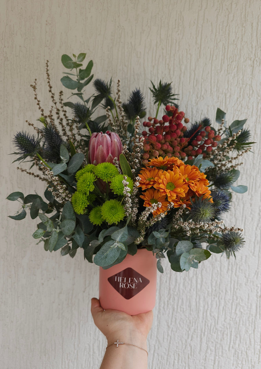
<instances>
[{"instance_id":1,"label":"leftmost spiky blue-green thistle head, on a green stem","mask_svg":"<svg viewBox=\"0 0 261 369\"><path fill-rule=\"evenodd\" d=\"M21 156L17 160L24 160L28 156L33 158L40 150L40 139L35 135L30 135L28 132L19 131L13 138L13 144L17 148L18 154Z\"/></svg>"}]
</instances>

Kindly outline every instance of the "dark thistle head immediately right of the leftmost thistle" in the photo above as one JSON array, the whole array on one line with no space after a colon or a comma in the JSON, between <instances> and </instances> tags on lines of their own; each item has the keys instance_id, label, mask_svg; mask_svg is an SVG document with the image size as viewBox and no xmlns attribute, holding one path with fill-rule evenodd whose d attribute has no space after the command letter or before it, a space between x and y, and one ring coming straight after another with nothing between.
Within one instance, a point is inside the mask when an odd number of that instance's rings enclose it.
<instances>
[{"instance_id":1,"label":"dark thistle head immediately right of the leftmost thistle","mask_svg":"<svg viewBox=\"0 0 261 369\"><path fill-rule=\"evenodd\" d=\"M48 124L41 130L44 142L42 148L42 157L49 162L60 162L60 147L64 144L59 131L53 124Z\"/></svg>"}]
</instances>

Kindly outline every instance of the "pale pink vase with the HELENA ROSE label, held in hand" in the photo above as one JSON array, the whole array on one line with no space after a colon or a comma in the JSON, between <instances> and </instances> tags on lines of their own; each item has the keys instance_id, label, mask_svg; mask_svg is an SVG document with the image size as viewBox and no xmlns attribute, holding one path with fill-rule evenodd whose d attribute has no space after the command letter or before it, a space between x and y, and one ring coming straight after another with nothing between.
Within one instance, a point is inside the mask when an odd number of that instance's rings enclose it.
<instances>
[{"instance_id":1,"label":"pale pink vase with the HELENA ROSE label, held in hand","mask_svg":"<svg viewBox=\"0 0 261 369\"><path fill-rule=\"evenodd\" d=\"M152 310L156 300L156 262L155 255L151 251L142 248L138 249L134 256L128 254L123 262L109 269L100 267L99 299L103 309L120 310L129 315L146 313ZM130 269L127 268L134 270L135 279L130 279ZM127 272L122 272L125 269L127 269ZM120 277L115 276L120 272L122 272ZM138 275L141 275L140 279L137 277ZM137 292L144 284L147 285L135 296L126 299L112 286L108 278L121 293L125 296L128 295L127 297L130 297L133 292ZM135 283L136 280L137 283Z\"/></svg>"}]
</instances>

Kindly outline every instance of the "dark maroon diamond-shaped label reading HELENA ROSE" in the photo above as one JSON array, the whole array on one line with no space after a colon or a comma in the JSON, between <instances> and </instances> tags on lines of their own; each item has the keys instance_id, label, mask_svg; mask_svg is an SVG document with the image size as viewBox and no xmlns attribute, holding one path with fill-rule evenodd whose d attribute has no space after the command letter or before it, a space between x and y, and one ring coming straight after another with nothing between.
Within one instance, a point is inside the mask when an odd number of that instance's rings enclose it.
<instances>
[{"instance_id":1,"label":"dark maroon diamond-shaped label reading HELENA ROSE","mask_svg":"<svg viewBox=\"0 0 261 369\"><path fill-rule=\"evenodd\" d=\"M149 280L132 268L126 268L108 278L117 292L126 300L141 292L149 284Z\"/></svg>"}]
</instances>

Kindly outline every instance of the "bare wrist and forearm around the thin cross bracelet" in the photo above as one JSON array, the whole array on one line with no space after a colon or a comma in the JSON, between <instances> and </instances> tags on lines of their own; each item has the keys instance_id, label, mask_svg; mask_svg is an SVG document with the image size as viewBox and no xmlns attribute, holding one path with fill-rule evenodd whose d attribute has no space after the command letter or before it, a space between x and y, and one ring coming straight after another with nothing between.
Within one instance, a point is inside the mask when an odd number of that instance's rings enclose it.
<instances>
[{"instance_id":1,"label":"bare wrist and forearm around the thin cross bracelet","mask_svg":"<svg viewBox=\"0 0 261 369\"><path fill-rule=\"evenodd\" d=\"M135 346L127 344L112 344L119 339L119 342L126 342ZM112 345L111 345L112 344ZM147 339L135 334L121 335L121 337L108 338L108 345L106 349L102 365L100 369L147 369L148 355L147 355ZM142 350L139 346L146 351Z\"/></svg>"}]
</instances>

